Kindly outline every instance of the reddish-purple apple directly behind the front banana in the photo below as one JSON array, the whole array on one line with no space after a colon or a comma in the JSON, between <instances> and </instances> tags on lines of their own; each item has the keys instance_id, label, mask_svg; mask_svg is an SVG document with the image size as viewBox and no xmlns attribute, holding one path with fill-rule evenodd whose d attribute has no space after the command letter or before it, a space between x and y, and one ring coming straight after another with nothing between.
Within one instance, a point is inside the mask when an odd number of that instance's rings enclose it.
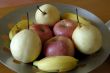
<instances>
[{"instance_id":1,"label":"reddish-purple apple directly behind the front banana","mask_svg":"<svg viewBox=\"0 0 110 73\"><path fill-rule=\"evenodd\" d=\"M72 40L65 36L55 36L44 44L43 52L45 56L73 56L75 53Z\"/></svg>"}]
</instances>

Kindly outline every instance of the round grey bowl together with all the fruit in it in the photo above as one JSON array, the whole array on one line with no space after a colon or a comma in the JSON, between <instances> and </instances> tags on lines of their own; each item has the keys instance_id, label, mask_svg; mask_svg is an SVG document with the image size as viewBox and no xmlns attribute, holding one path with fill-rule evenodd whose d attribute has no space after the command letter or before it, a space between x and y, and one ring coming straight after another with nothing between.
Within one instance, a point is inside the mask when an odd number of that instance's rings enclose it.
<instances>
[{"instance_id":1,"label":"round grey bowl together with all the fruit in it","mask_svg":"<svg viewBox=\"0 0 110 73\"><path fill-rule=\"evenodd\" d=\"M77 6L39 3L0 20L0 61L19 73L88 73L110 54L110 32Z\"/></svg>"}]
</instances>

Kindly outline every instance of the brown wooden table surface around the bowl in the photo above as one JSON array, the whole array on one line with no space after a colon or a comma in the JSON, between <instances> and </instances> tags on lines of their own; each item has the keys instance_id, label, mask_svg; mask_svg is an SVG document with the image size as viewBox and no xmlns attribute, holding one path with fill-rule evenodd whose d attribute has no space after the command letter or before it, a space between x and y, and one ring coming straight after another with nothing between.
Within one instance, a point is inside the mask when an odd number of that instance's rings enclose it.
<instances>
[{"instance_id":1,"label":"brown wooden table surface around the bowl","mask_svg":"<svg viewBox=\"0 0 110 73\"><path fill-rule=\"evenodd\" d=\"M9 0L0 0L0 1L1 1L0 5L2 7L2 8L0 7L0 18L5 16L9 12L12 12L13 10L19 8L20 6L32 4L32 2L31 1L29 2L28 0L28 2L24 4L22 2L20 4L19 2L19 5L15 5L12 2L12 3L8 3L8 5L6 6L5 4L9 2ZM23 0L18 0L18 1L23 1ZM42 0L42 1L46 2L49 0ZM72 4L87 9L90 12L97 15L104 22L107 22L110 19L110 8L109 8L110 0L50 0L50 1ZM15 73L15 72L0 63L0 73ZM110 56L101 66L99 66L90 73L110 73Z\"/></svg>"}]
</instances>

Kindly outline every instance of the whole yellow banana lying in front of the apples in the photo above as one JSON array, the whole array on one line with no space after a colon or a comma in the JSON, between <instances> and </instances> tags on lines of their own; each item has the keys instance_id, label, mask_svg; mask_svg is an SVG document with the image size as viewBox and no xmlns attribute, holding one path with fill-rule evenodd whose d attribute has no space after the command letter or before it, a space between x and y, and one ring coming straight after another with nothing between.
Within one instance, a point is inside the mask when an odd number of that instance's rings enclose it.
<instances>
[{"instance_id":1,"label":"whole yellow banana lying in front of the apples","mask_svg":"<svg viewBox=\"0 0 110 73\"><path fill-rule=\"evenodd\" d=\"M33 62L40 70L46 72L66 72L77 66L78 60L71 56L45 57Z\"/></svg>"}]
</instances>

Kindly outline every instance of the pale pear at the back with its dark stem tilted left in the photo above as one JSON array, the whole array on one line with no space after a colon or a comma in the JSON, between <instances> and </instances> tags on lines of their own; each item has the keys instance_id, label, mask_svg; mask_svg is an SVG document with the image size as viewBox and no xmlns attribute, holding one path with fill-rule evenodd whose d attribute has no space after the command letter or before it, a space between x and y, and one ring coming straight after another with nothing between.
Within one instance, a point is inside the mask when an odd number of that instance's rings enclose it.
<instances>
[{"instance_id":1,"label":"pale pear at the back with its dark stem tilted left","mask_svg":"<svg viewBox=\"0 0 110 73\"><path fill-rule=\"evenodd\" d=\"M44 4L38 7L35 20L38 24L53 26L60 20L60 12L54 5Z\"/></svg>"}]
</instances>

